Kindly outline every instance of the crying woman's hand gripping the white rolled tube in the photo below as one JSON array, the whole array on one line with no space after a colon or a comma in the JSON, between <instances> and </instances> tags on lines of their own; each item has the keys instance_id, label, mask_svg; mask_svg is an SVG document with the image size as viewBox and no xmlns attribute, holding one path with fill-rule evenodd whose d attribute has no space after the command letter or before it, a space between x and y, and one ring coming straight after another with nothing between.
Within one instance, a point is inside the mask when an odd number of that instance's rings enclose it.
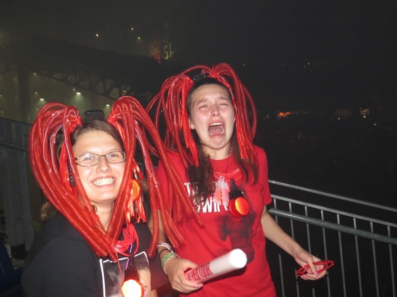
<instances>
[{"instance_id":1,"label":"crying woman's hand gripping the white rolled tube","mask_svg":"<svg viewBox=\"0 0 397 297\"><path fill-rule=\"evenodd\" d=\"M197 267L197 264L190 260L173 257L166 261L164 271L168 275L169 282L174 290L189 293L203 287L203 284L189 281L185 276L185 271L195 267Z\"/></svg>"}]
</instances>

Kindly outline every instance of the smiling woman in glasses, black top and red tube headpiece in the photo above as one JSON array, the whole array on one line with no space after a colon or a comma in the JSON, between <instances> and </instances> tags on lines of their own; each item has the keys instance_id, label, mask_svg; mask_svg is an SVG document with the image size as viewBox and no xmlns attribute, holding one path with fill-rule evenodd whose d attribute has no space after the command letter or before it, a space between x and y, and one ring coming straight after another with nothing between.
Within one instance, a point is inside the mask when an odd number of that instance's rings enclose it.
<instances>
[{"instance_id":1,"label":"smiling woman in glasses, black top and red tube headpiece","mask_svg":"<svg viewBox=\"0 0 397 297\"><path fill-rule=\"evenodd\" d=\"M61 128L56 159L54 140ZM134 159L136 144L152 177L149 201L162 202L143 128L163 151L149 115L132 97L119 98L107 120L82 120L75 107L60 103L40 110L31 130L30 159L48 201L24 262L27 296L123 296L127 276L140 283L144 296L156 296L152 289L166 283L158 256L146 255L155 254L158 240L146 224L139 186L146 181Z\"/></svg>"}]
</instances>

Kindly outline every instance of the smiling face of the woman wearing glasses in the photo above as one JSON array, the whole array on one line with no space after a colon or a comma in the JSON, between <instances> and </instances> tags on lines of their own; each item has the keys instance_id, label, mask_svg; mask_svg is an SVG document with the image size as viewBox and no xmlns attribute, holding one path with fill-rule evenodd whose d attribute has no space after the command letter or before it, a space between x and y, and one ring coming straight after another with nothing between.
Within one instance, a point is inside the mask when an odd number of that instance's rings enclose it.
<instances>
[{"instance_id":1,"label":"smiling face of the woman wearing glasses","mask_svg":"<svg viewBox=\"0 0 397 297\"><path fill-rule=\"evenodd\" d=\"M120 143L101 130L88 130L80 134L73 146L78 157L87 153L105 155L112 151L122 151ZM126 162L109 163L102 156L99 163L91 167L77 165L78 175L88 198L95 205L112 205L116 200L122 182Z\"/></svg>"}]
</instances>

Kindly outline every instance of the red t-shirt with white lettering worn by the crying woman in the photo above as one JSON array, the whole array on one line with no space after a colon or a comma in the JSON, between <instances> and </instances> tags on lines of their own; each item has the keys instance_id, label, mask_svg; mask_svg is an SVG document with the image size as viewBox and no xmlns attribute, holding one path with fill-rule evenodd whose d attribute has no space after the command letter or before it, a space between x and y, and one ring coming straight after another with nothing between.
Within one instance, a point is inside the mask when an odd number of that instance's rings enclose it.
<instances>
[{"instance_id":1,"label":"red t-shirt with white lettering worn by the crying woman","mask_svg":"<svg viewBox=\"0 0 397 297\"><path fill-rule=\"evenodd\" d=\"M202 289L189 296L273 297L276 295L266 258L266 240L261 224L263 208L272 202L268 184L267 157L262 148L255 146L255 150L259 167L258 181L253 184L252 180L249 180L241 189L250 205L247 216L236 218L228 210L230 179L233 178L237 186L242 184L242 174L231 155L223 160L211 160L218 186L215 193L197 207L204 227L199 226L191 217L178 223L185 240L184 246L176 250L181 258L201 265L234 248L242 249L248 258L245 268L210 280L204 283ZM192 189L181 158L174 153L169 156L185 182L188 195L191 196ZM167 181L161 161L158 164L157 174L163 193L167 197ZM223 195L219 189L223 190Z\"/></svg>"}]
</instances>

